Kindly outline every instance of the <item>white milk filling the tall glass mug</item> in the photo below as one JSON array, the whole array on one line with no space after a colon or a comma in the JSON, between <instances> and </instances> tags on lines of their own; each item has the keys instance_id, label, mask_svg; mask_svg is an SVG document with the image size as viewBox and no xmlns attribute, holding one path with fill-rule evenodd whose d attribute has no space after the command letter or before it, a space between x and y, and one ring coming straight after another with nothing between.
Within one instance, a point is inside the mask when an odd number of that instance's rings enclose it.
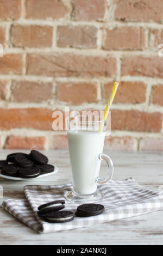
<instances>
[{"instance_id":1,"label":"white milk filling the tall glass mug","mask_svg":"<svg viewBox=\"0 0 163 256\"><path fill-rule=\"evenodd\" d=\"M94 193L101 167L98 156L103 153L105 132L68 131L67 136L74 191Z\"/></svg>"}]
</instances>

